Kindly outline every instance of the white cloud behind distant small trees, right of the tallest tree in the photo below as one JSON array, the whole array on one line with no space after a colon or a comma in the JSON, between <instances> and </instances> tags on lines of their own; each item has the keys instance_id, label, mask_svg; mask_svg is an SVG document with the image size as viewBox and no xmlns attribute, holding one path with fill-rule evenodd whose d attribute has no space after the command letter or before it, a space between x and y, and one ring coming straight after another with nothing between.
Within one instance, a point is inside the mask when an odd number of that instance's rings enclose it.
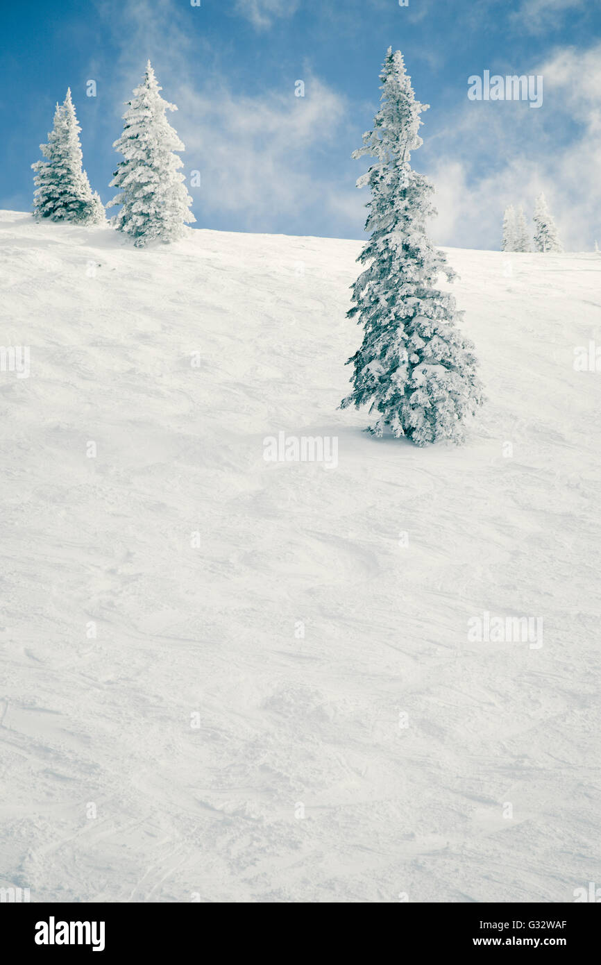
<instances>
[{"instance_id":1,"label":"white cloud behind distant small trees, right of the tallest tree","mask_svg":"<svg viewBox=\"0 0 601 965\"><path fill-rule=\"evenodd\" d=\"M498 248L504 207L523 204L530 218L543 190L566 248L590 250L601 238L601 43L559 49L534 70L544 77L539 111L469 104L436 136L441 159L428 173L437 188L439 243ZM574 123L580 129L565 140Z\"/></svg>"}]
</instances>

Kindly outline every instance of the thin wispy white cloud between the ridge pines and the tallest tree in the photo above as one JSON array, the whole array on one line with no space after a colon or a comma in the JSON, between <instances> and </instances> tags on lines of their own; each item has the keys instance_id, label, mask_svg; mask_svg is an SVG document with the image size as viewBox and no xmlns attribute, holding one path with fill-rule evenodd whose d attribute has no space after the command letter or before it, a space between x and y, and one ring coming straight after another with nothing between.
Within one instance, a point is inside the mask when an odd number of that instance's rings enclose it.
<instances>
[{"instance_id":1,"label":"thin wispy white cloud between the ridge pines and the tallest tree","mask_svg":"<svg viewBox=\"0 0 601 965\"><path fill-rule=\"evenodd\" d=\"M293 87L262 96L234 95L224 86L202 93L179 89L178 130L186 166L202 171L205 218L231 212L240 229L266 231L275 216L287 216L293 226L296 216L302 220L313 208L324 226L328 210L352 224L360 204L323 174L323 160L314 163L316 152L336 145L347 106L316 78L305 82L304 97L294 96Z\"/></svg>"}]
</instances>

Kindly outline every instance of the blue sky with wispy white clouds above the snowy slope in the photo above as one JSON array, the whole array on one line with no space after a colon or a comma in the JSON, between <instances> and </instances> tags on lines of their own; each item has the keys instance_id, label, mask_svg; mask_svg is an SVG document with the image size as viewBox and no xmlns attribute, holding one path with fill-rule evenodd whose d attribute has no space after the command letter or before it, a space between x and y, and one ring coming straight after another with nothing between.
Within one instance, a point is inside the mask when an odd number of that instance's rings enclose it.
<instances>
[{"instance_id":1,"label":"blue sky with wispy white clouds above the snowy slope","mask_svg":"<svg viewBox=\"0 0 601 965\"><path fill-rule=\"evenodd\" d=\"M498 248L506 204L544 190L566 247L601 245L599 0L30 0L0 39L0 207L29 210L30 165L70 86L104 202L123 101L150 60L186 145L197 227L362 237L352 161L400 48L423 116L414 167L433 179L441 244ZM475 102L468 77L541 74L543 105ZM96 97L86 96L88 80ZM305 96L295 96L303 80Z\"/></svg>"}]
</instances>

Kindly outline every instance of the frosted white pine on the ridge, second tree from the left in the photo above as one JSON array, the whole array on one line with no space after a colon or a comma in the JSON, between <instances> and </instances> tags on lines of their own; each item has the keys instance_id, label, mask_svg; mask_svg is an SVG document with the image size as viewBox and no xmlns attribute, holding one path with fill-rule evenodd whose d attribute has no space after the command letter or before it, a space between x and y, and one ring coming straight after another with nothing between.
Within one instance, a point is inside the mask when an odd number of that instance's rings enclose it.
<instances>
[{"instance_id":1,"label":"frosted white pine on the ridge, second tree from the left","mask_svg":"<svg viewBox=\"0 0 601 965\"><path fill-rule=\"evenodd\" d=\"M174 152L184 151L165 111L177 111L159 91L150 61L142 83L123 114L123 134L113 147L123 154L112 187L121 188L107 207L123 207L112 219L115 227L134 238L141 248L149 241L174 241L187 222L196 221L189 210L192 198L178 169L183 166Z\"/></svg>"}]
</instances>

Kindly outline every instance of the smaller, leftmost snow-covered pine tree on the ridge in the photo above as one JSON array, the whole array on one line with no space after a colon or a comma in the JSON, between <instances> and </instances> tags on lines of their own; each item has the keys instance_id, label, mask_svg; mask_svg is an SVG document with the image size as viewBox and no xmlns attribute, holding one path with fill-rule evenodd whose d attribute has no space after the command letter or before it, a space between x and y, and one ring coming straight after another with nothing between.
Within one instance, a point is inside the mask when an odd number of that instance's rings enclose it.
<instances>
[{"instance_id":1,"label":"smaller, leftmost snow-covered pine tree on the ridge","mask_svg":"<svg viewBox=\"0 0 601 965\"><path fill-rule=\"evenodd\" d=\"M104 221L102 202L81 167L80 130L69 88L63 105L56 105L48 143L40 145L46 160L32 164L36 172L34 214L39 218L85 224Z\"/></svg>"}]
</instances>

